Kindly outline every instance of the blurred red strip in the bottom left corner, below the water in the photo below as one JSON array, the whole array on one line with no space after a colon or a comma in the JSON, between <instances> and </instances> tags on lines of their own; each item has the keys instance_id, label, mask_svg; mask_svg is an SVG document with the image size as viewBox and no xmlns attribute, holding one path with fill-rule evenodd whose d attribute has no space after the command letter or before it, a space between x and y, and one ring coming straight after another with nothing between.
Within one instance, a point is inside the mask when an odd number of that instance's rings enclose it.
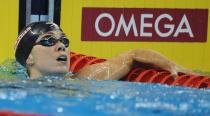
<instances>
[{"instance_id":1,"label":"blurred red strip in the bottom left corner, below the water","mask_svg":"<svg viewBox=\"0 0 210 116\"><path fill-rule=\"evenodd\" d=\"M16 113L11 111L0 111L0 116L44 116L39 114Z\"/></svg>"}]
</instances>

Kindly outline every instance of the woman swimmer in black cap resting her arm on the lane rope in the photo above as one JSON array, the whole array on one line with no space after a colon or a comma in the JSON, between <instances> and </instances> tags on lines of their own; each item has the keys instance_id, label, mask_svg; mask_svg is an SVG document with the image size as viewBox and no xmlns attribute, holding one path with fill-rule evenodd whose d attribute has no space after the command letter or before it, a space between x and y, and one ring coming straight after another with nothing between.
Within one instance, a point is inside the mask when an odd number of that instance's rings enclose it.
<instances>
[{"instance_id":1,"label":"woman swimmer in black cap resting her arm on the lane rope","mask_svg":"<svg viewBox=\"0 0 210 116\"><path fill-rule=\"evenodd\" d=\"M15 43L16 60L26 67L30 78L65 76L69 72L69 39L61 28L52 22L35 22L25 27ZM106 62L93 64L79 70L72 78L117 80L129 73L134 61L151 64L171 72L193 74L152 50L131 50Z\"/></svg>"}]
</instances>

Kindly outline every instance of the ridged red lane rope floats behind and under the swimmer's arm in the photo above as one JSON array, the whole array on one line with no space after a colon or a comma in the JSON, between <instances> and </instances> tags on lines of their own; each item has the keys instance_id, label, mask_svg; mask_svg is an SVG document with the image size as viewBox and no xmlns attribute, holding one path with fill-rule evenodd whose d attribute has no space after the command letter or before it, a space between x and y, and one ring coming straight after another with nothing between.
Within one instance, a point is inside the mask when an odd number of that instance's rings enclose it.
<instances>
[{"instance_id":1,"label":"ridged red lane rope floats behind and under the swimmer's arm","mask_svg":"<svg viewBox=\"0 0 210 116\"><path fill-rule=\"evenodd\" d=\"M69 70L77 72L88 65L106 61L103 58L86 56L83 54L71 53L71 63ZM192 88L210 88L210 77L201 75L186 75L179 73L179 77L174 79L170 72L158 71L155 69L144 69L137 67L133 69L128 76L121 79L130 82L161 83L175 86L186 86Z\"/></svg>"}]
</instances>

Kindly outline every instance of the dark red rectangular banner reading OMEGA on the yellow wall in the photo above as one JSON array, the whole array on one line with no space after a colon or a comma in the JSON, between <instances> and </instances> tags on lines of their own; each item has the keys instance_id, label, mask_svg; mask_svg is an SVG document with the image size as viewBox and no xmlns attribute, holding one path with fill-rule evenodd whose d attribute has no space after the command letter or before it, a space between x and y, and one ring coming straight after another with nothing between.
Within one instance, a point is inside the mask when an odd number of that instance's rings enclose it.
<instances>
[{"instance_id":1,"label":"dark red rectangular banner reading OMEGA on the yellow wall","mask_svg":"<svg viewBox=\"0 0 210 116\"><path fill-rule=\"evenodd\" d=\"M82 41L206 42L207 28L208 9L82 9Z\"/></svg>"}]
</instances>

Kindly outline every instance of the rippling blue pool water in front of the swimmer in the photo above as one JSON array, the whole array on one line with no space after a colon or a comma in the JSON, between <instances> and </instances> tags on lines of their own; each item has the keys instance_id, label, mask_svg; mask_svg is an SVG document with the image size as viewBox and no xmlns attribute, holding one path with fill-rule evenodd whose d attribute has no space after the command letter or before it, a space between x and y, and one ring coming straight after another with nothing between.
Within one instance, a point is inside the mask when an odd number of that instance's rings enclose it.
<instances>
[{"instance_id":1,"label":"rippling blue pool water in front of the swimmer","mask_svg":"<svg viewBox=\"0 0 210 116\"><path fill-rule=\"evenodd\" d=\"M28 79L8 59L0 66L0 110L61 116L210 115L210 89L123 81Z\"/></svg>"}]
</instances>

